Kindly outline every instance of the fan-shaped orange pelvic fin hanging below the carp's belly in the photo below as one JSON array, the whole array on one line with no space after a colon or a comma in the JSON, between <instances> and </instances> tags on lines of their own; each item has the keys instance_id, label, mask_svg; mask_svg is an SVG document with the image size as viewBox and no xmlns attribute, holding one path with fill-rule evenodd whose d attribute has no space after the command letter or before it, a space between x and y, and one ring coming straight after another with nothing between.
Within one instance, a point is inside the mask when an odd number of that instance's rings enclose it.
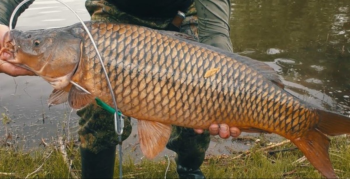
<instances>
[{"instance_id":1,"label":"fan-shaped orange pelvic fin hanging below the carp's belly","mask_svg":"<svg viewBox=\"0 0 350 179\"><path fill-rule=\"evenodd\" d=\"M172 127L156 121L138 120L137 125L142 153L152 159L167 145Z\"/></svg>"}]
</instances>

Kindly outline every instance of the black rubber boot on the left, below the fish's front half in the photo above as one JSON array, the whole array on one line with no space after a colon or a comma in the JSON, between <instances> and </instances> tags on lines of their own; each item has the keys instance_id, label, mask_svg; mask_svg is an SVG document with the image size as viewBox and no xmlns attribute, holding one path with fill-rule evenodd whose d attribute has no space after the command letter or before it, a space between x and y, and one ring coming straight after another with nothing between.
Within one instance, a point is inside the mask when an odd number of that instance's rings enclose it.
<instances>
[{"instance_id":1,"label":"black rubber boot on the left, below the fish's front half","mask_svg":"<svg viewBox=\"0 0 350 179\"><path fill-rule=\"evenodd\" d=\"M80 147L82 178L113 178L116 146L99 153Z\"/></svg>"}]
</instances>

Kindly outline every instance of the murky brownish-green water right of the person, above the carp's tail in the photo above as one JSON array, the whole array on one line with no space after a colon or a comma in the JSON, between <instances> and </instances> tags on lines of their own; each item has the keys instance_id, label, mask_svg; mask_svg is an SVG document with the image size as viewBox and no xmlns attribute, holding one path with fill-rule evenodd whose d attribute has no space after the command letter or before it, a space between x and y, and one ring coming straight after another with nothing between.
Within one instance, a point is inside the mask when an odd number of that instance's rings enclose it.
<instances>
[{"instance_id":1,"label":"murky brownish-green water right of the person, above the carp's tail","mask_svg":"<svg viewBox=\"0 0 350 179\"><path fill-rule=\"evenodd\" d=\"M349 106L343 96L350 94L350 1L232 2L235 52L274 62L275 70L289 81L287 90L311 97L308 101L317 106L347 114L349 108L338 104Z\"/></svg>"}]
</instances>

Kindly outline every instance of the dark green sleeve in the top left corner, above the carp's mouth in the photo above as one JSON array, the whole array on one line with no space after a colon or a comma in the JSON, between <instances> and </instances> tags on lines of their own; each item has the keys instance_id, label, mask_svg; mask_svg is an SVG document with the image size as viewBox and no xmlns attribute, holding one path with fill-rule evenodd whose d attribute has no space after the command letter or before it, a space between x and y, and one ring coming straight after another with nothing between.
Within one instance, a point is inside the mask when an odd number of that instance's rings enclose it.
<instances>
[{"instance_id":1,"label":"dark green sleeve in the top left corner, above the carp's mouth","mask_svg":"<svg viewBox=\"0 0 350 179\"><path fill-rule=\"evenodd\" d=\"M16 6L18 6L22 1L24 0L1 0L0 1L0 24L4 24L6 26L9 26L10 23L10 17L15 10ZM12 26L15 27L17 23L18 16L26 10L29 5L31 5L34 2L34 0L28 1L25 3L16 13Z\"/></svg>"}]
</instances>

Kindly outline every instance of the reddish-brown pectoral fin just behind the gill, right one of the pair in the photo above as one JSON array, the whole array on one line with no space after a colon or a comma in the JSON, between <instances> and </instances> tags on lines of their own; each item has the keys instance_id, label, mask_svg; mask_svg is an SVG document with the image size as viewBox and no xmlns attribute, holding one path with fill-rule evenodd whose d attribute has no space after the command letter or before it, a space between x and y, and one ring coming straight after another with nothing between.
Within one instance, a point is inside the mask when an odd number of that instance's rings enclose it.
<instances>
[{"instance_id":1,"label":"reddish-brown pectoral fin just behind the gill, right one of the pair","mask_svg":"<svg viewBox=\"0 0 350 179\"><path fill-rule=\"evenodd\" d=\"M76 86L72 86L68 95L68 103L69 106L73 109L80 109L87 104L89 104L93 100L93 96L88 94L82 90L80 90Z\"/></svg>"}]
</instances>

